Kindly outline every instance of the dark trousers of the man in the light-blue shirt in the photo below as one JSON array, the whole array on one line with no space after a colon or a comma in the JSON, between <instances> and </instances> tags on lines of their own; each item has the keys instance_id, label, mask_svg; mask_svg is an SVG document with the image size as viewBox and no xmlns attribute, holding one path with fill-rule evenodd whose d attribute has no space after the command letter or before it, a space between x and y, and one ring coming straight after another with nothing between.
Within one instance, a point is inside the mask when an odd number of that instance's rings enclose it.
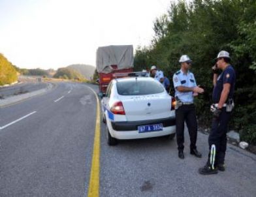
<instances>
[{"instance_id":1,"label":"dark trousers of the man in the light-blue shirt","mask_svg":"<svg viewBox=\"0 0 256 197\"><path fill-rule=\"evenodd\" d=\"M176 115L176 139L178 150L184 150L184 122L187 123L187 129L190 136L190 149L196 149L197 143L197 118L195 115L195 105L182 105L175 110Z\"/></svg>"}]
</instances>

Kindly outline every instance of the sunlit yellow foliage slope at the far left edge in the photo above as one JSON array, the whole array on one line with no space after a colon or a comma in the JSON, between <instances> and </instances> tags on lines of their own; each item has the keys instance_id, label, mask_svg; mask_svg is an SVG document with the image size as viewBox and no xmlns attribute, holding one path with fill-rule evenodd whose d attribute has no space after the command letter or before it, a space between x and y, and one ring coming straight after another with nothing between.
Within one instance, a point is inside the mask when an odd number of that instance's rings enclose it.
<instances>
[{"instance_id":1,"label":"sunlit yellow foliage slope at the far left edge","mask_svg":"<svg viewBox=\"0 0 256 197\"><path fill-rule=\"evenodd\" d=\"M17 72L12 64L0 53L0 85L10 84L18 80Z\"/></svg>"}]
</instances>

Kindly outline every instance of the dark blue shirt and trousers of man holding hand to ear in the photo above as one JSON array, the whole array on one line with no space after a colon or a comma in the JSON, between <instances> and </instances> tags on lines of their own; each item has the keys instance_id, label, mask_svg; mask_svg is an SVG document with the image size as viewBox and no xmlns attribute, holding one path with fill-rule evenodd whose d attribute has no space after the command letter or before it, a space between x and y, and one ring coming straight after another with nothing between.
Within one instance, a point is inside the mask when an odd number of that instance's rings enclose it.
<instances>
[{"instance_id":1,"label":"dark blue shirt and trousers of man holding hand to ear","mask_svg":"<svg viewBox=\"0 0 256 197\"><path fill-rule=\"evenodd\" d=\"M223 90L223 85L225 83L231 84L231 89L229 91L229 98L233 97L234 94L234 83L236 81L236 74L234 72L234 68L229 65L217 78L217 83L214 86L214 91L212 95L212 99L214 104L217 104L219 102L219 99L221 98L221 92ZM226 101L227 102L227 101ZM229 123L229 119L231 116L231 112L226 112L226 107L223 107L221 110L221 114L219 115L219 118L213 118L212 119L212 130L210 132L210 136L208 139L210 149L212 145L215 145L216 147L216 156L215 156L215 162L214 166L217 166L218 164L224 164L225 160L225 152L227 149L227 127ZM211 153L209 153L209 159L208 162L210 162Z\"/></svg>"}]
</instances>

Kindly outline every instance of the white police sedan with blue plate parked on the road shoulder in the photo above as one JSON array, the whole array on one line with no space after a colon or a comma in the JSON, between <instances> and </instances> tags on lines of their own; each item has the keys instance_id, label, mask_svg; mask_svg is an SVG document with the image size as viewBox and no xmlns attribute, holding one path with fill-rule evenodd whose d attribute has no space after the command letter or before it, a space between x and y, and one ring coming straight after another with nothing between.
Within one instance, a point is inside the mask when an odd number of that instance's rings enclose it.
<instances>
[{"instance_id":1,"label":"white police sedan with blue plate parked on the road shoulder","mask_svg":"<svg viewBox=\"0 0 256 197\"><path fill-rule=\"evenodd\" d=\"M112 80L101 100L109 145L118 140L176 134L175 99L153 78Z\"/></svg>"}]
</instances>

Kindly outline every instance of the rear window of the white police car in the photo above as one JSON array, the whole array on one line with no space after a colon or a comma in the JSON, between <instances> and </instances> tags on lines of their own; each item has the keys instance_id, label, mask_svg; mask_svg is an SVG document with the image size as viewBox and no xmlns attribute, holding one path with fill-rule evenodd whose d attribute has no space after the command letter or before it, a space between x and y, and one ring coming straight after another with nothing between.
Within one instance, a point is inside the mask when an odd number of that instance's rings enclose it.
<instances>
[{"instance_id":1,"label":"rear window of the white police car","mask_svg":"<svg viewBox=\"0 0 256 197\"><path fill-rule=\"evenodd\" d=\"M145 80L120 81L116 87L119 95L152 95L165 91L161 83Z\"/></svg>"}]
</instances>

